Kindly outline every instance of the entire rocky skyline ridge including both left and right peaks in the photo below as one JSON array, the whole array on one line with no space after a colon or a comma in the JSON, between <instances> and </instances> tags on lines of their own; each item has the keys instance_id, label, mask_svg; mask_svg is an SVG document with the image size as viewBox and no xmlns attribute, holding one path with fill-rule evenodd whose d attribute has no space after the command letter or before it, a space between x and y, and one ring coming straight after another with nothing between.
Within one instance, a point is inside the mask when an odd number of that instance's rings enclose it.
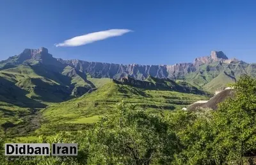
<instances>
[{"instance_id":1,"label":"entire rocky skyline ridge including both left and right peaks","mask_svg":"<svg viewBox=\"0 0 256 165\"><path fill-rule=\"evenodd\" d=\"M149 76L182 80L197 88L214 92L236 81L242 74L256 76L256 64L248 64L238 59L228 59L221 51L212 51L209 56L196 58L193 63L177 63L175 65L122 65L113 63L88 62L78 59L63 60L53 58L44 47L25 49L21 54L0 62L1 70L17 67L17 65L42 64L51 66L51 70L72 68L77 75L90 75L94 78L108 77L120 80L129 75L134 79L146 80ZM71 72L71 71L70 71Z\"/></svg>"}]
</instances>

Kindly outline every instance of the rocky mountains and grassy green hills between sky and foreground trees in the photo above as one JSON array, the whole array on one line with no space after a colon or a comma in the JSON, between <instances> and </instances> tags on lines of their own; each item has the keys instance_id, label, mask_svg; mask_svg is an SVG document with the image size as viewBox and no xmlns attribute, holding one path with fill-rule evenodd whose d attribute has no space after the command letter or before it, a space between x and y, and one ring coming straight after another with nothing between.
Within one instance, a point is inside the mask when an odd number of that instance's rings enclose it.
<instances>
[{"instance_id":1,"label":"rocky mountains and grassy green hills between sky and foreground trees","mask_svg":"<svg viewBox=\"0 0 256 165\"><path fill-rule=\"evenodd\" d=\"M122 65L54 58L44 47L24 49L0 61L0 134L51 134L74 124L80 130L113 113L122 100L150 111L182 109L243 74L256 77L256 64L221 51L193 63Z\"/></svg>"}]
</instances>

